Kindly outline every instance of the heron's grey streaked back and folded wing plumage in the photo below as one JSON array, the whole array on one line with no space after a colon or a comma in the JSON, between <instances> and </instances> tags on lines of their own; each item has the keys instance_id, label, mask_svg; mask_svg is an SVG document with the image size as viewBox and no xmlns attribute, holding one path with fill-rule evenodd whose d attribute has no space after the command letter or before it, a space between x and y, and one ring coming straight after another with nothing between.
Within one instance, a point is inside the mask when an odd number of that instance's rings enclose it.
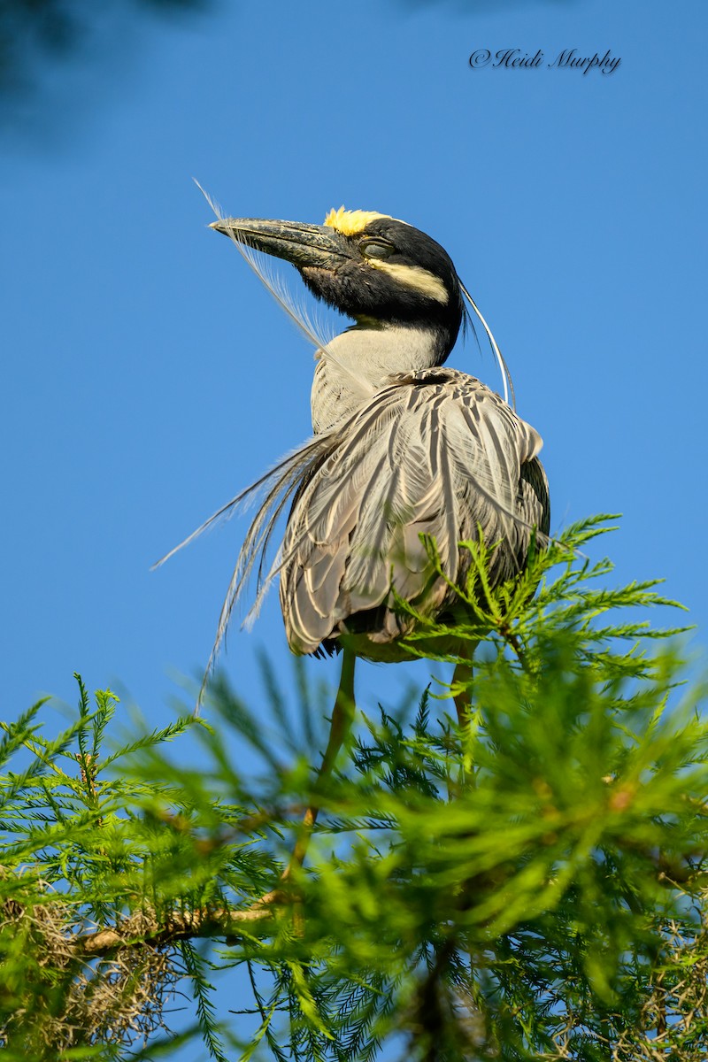
<instances>
[{"instance_id":1,"label":"heron's grey streaked back and folded wing plumage","mask_svg":"<svg viewBox=\"0 0 708 1062\"><path fill-rule=\"evenodd\" d=\"M513 576L532 527L548 530L534 491L525 483L529 496L521 492L521 468L540 445L472 377L438 369L392 378L338 428L327 462L293 504L280 566L291 647L313 652L358 616L370 620L373 644L396 638L396 595L441 607L451 592L444 580L431 586L421 533L435 538L453 582L468 556L459 542L479 527L499 543L493 580Z\"/></svg>"}]
</instances>

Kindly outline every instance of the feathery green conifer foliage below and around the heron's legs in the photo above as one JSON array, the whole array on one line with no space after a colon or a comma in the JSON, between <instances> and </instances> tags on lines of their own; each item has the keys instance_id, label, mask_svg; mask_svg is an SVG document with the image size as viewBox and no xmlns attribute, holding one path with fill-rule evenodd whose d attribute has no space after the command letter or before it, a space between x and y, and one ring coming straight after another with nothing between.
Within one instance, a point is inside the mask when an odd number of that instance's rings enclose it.
<instances>
[{"instance_id":1,"label":"feathery green conifer foliage below and around the heron's legs","mask_svg":"<svg viewBox=\"0 0 708 1062\"><path fill-rule=\"evenodd\" d=\"M81 681L54 740L41 705L6 724L6 1057L169 1057L182 977L180 1039L214 1060L704 1062L703 690L676 629L646 624L672 604L656 584L610 589L608 562L581 555L605 525L571 528L496 594L468 544L454 624L418 617L410 647L439 639L464 664L481 644L469 712L439 686L408 712L360 705L316 790L322 698L301 670L298 725L267 666L270 725L221 684L209 723L107 755L116 700L91 707ZM315 791L305 869L281 879ZM246 987L232 1026L224 971Z\"/></svg>"}]
</instances>

